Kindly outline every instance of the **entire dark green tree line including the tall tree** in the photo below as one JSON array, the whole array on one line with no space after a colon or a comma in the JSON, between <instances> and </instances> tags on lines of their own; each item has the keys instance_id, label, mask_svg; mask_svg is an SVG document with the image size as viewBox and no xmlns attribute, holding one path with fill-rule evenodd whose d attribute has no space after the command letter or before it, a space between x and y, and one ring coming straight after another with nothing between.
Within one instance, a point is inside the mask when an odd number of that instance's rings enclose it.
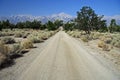
<instances>
[{"instance_id":1,"label":"entire dark green tree line including the tall tree","mask_svg":"<svg viewBox=\"0 0 120 80\"><path fill-rule=\"evenodd\" d=\"M90 34L91 31L100 31L100 32L120 32L120 25L116 24L116 20L112 19L110 25L107 26L106 20L103 19L103 15L98 15L95 11L89 6L83 6L80 11L77 11L77 17L74 20L71 20L67 23L64 23L62 20L56 20L54 22L48 21L45 24L42 24L41 21L26 21L18 22L17 24L12 24L9 20L0 21L0 30L6 28L32 28L32 29L48 29L56 30L60 26L63 26L64 30L84 30L87 34Z\"/></svg>"}]
</instances>

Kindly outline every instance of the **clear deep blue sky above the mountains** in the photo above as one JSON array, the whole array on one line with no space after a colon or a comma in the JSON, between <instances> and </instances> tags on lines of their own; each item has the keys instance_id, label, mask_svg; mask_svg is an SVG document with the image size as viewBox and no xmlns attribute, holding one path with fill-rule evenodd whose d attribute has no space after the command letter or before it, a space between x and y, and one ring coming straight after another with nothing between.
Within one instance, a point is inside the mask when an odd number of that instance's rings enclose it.
<instances>
[{"instance_id":1,"label":"clear deep blue sky above the mountains","mask_svg":"<svg viewBox=\"0 0 120 80\"><path fill-rule=\"evenodd\" d=\"M0 16L46 16L60 12L75 16L82 6L90 6L99 15L120 15L120 0L0 0Z\"/></svg>"}]
</instances>

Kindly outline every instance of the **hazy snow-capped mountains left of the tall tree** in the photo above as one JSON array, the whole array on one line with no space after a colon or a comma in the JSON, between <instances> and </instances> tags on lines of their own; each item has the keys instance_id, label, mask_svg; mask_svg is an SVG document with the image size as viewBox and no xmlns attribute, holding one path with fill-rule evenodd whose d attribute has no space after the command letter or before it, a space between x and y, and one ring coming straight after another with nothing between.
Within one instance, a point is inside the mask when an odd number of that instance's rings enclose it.
<instances>
[{"instance_id":1,"label":"hazy snow-capped mountains left of the tall tree","mask_svg":"<svg viewBox=\"0 0 120 80\"><path fill-rule=\"evenodd\" d=\"M25 21L33 21L38 20L42 21L42 23L46 23L47 21L55 21L55 20L63 20L64 22L70 21L74 19L74 17L66 14L66 13L59 13L59 14L53 14L50 16L32 16L32 15L16 15L16 16L2 16L0 17L0 20L9 20L11 23L17 23L17 22L25 22Z\"/></svg>"}]
</instances>

